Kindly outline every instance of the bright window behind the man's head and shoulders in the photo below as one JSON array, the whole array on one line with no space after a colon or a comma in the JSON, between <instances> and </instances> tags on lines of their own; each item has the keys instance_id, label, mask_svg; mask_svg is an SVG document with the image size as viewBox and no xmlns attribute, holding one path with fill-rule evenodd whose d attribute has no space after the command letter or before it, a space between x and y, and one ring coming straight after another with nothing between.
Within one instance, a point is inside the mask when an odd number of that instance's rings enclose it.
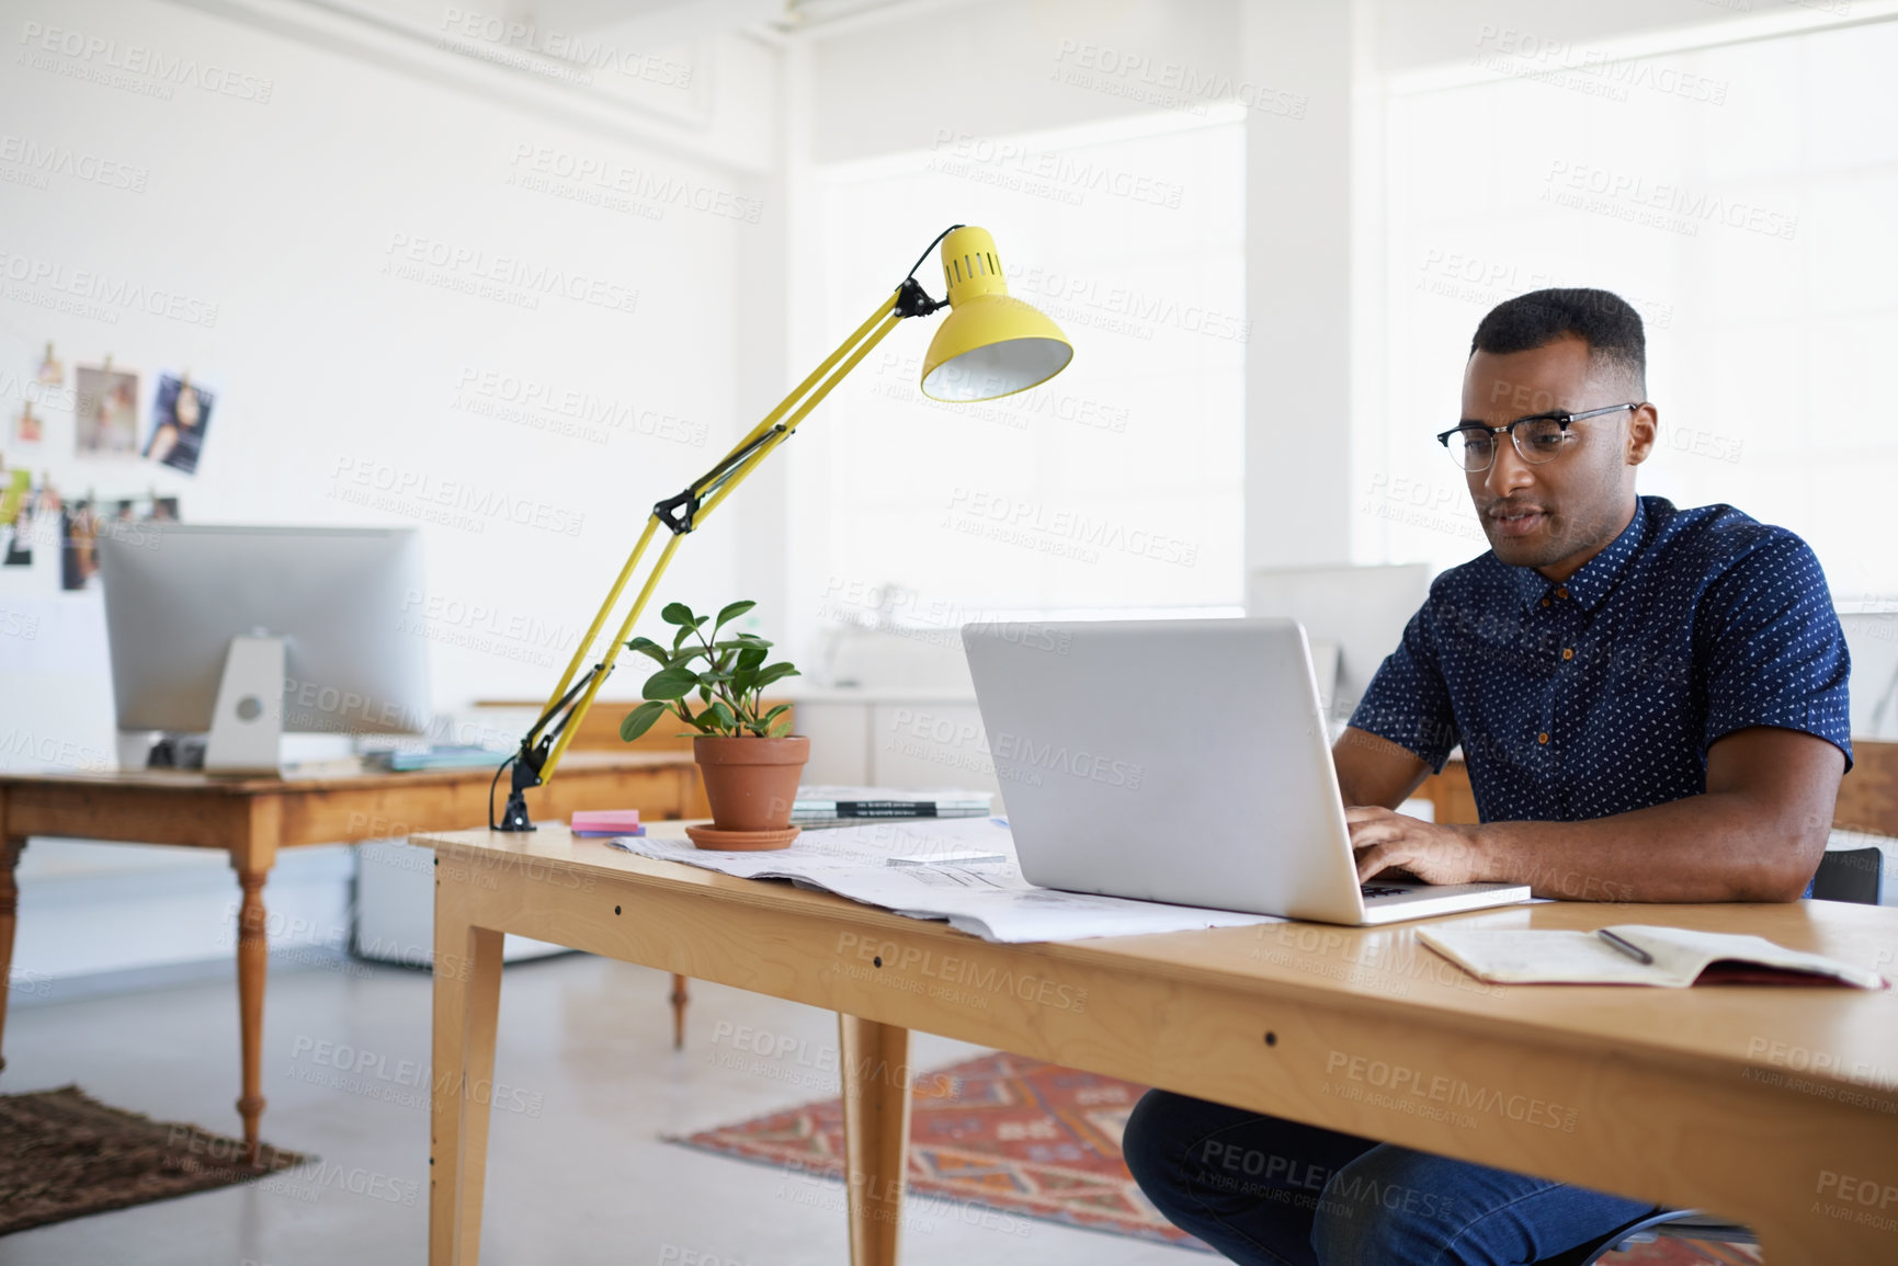
<instances>
[{"instance_id":1,"label":"bright window behind the man's head and shoulders","mask_svg":"<svg viewBox=\"0 0 1898 1266\"><path fill-rule=\"evenodd\" d=\"M1591 285L1647 325L1661 437L1640 490L1792 528L1841 602L1898 594L1894 65L1898 23L1613 63L1518 40L1480 82L1395 91L1359 560L1488 549L1429 433L1456 419L1484 311Z\"/></svg>"}]
</instances>

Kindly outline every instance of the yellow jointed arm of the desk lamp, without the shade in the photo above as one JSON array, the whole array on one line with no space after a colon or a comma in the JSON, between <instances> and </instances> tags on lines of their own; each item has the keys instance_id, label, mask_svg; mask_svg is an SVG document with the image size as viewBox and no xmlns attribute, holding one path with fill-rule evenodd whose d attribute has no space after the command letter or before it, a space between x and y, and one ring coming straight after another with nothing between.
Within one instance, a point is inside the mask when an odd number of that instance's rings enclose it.
<instances>
[{"instance_id":1,"label":"yellow jointed arm of the desk lamp, without the shade","mask_svg":"<svg viewBox=\"0 0 1898 1266\"><path fill-rule=\"evenodd\" d=\"M941 239L938 237L938 241ZM930 247L934 249L934 243L930 243ZM924 258L928 258L926 251ZM915 273L915 270L911 270L911 273ZM915 277L905 277L903 283L881 304L877 304L877 309L871 311L869 317L856 326L856 330L852 330L835 351L831 351L801 383L790 391L790 395L776 404L776 408L765 414L765 418L752 427L752 431L733 444L731 452L719 457L710 471L687 484L683 492L666 497L653 507L653 514L645 520L645 530L640 533L632 552L621 566L619 577L615 577L613 586L607 590L605 602L600 604L600 611L586 626L586 634L581 638L579 647L575 647L573 659L560 676L560 683L554 687L552 695L549 695L547 706L522 736L520 750L511 755L507 763L503 763L501 771L512 765L511 795L499 826L493 822L490 801L490 828L503 831L533 829L528 822L526 799L522 797L522 791L552 780L554 771L560 765L560 757L566 754L573 735L579 733L579 723L586 716L586 710L592 708L594 697L600 693L600 683L613 672L613 662L619 659L632 626L651 602L653 592L659 586L659 579L672 562L672 554L678 550L679 541L691 533L706 514L716 511L719 503L723 503L725 497L731 495L731 492L772 454L772 450L797 431L799 423L810 416L810 410L814 410L839 382L862 364L864 357L869 355L869 351L881 344L892 328L896 328L898 321L903 317L926 315L940 306L941 304L930 300L922 287L917 285ZM605 628L607 615L611 615L613 607L619 605L621 594L632 581L632 575L640 568L640 562L645 556L647 547L653 543L653 537L659 533L659 528L666 528L672 533L670 539L659 550L659 558L653 560L651 573L640 585L632 609L626 611L626 617L621 621L613 640L605 645L605 653L600 662L583 672L581 666L586 662L588 651L600 638L600 630ZM497 784L501 771L495 773Z\"/></svg>"}]
</instances>

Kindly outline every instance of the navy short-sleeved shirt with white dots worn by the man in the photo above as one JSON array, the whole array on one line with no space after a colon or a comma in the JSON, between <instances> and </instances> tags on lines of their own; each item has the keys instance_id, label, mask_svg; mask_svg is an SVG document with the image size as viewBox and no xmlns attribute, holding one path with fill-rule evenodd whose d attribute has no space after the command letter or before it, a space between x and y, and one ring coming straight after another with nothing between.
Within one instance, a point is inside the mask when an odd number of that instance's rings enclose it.
<instances>
[{"instance_id":1,"label":"navy short-sleeved shirt with white dots worn by the man","mask_svg":"<svg viewBox=\"0 0 1898 1266\"><path fill-rule=\"evenodd\" d=\"M1818 735L1852 765L1851 659L1826 573L1731 505L1640 497L1556 585L1496 552L1444 571L1351 714L1442 769L1484 822L1579 822L1706 791L1721 735Z\"/></svg>"}]
</instances>

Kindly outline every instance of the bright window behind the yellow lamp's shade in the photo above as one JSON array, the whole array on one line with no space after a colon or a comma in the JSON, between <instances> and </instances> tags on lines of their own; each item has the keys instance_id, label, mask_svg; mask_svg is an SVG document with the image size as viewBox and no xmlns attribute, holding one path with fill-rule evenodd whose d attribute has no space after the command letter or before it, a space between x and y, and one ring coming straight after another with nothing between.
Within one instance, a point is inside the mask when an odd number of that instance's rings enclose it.
<instances>
[{"instance_id":1,"label":"bright window behind the yellow lamp's shade","mask_svg":"<svg viewBox=\"0 0 1898 1266\"><path fill-rule=\"evenodd\" d=\"M945 626L1239 604L1241 129L945 133L820 175L826 340L960 220L995 233L1010 292L1061 325L1074 361L1029 393L941 404L917 389L941 317L898 326L826 400L822 446L793 446L799 588L875 605L902 586L894 619ZM943 296L934 251L917 275Z\"/></svg>"}]
</instances>

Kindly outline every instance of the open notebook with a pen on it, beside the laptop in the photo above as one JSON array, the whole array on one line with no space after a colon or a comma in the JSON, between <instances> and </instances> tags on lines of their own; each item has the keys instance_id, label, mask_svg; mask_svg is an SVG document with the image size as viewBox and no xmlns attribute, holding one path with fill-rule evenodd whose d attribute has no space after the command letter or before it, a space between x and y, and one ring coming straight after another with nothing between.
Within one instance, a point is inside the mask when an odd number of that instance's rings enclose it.
<instances>
[{"instance_id":1,"label":"open notebook with a pen on it, beside the laptop","mask_svg":"<svg viewBox=\"0 0 1898 1266\"><path fill-rule=\"evenodd\" d=\"M1691 932L1625 922L1608 928L1647 951L1638 962L1594 932L1503 932L1420 928L1418 940L1471 976L1494 985L1854 985L1883 989L1885 977L1851 962L1775 945L1763 936Z\"/></svg>"}]
</instances>

